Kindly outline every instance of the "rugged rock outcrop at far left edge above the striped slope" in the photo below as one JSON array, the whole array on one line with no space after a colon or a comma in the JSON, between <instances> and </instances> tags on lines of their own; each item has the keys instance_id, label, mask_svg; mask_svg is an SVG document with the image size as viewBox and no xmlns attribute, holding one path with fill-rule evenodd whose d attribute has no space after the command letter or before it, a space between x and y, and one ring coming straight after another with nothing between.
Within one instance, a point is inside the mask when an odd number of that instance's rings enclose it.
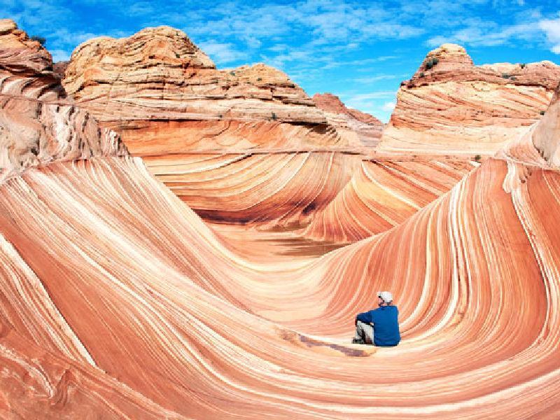
<instances>
[{"instance_id":1,"label":"rugged rock outcrop at far left edge above the striped slope","mask_svg":"<svg viewBox=\"0 0 560 420\"><path fill-rule=\"evenodd\" d=\"M118 134L64 100L41 44L0 20L0 179L53 160L126 153Z\"/></svg>"}]
</instances>

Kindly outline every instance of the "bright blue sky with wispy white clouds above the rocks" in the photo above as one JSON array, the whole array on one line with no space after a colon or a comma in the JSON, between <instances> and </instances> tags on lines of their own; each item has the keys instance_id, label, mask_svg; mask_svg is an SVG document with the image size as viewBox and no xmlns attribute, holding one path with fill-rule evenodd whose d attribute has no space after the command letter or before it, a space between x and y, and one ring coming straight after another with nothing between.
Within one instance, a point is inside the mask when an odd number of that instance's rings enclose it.
<instances>
[{"instance_id":1,"label":"bright blue sky with wispy white clouds above the rocks","mask_svg":"<svg viewBox=\"0 0 560 420\"><path fill-rule=\"evenodd\" d=\"M309 95L332 92L384 121L400 81L444 42L475 64L560 63L560 1L0 0L0 10L45 36L55 61L93 36L169 25L218 68L265 62Z\"/></svg>"}]
</instances>

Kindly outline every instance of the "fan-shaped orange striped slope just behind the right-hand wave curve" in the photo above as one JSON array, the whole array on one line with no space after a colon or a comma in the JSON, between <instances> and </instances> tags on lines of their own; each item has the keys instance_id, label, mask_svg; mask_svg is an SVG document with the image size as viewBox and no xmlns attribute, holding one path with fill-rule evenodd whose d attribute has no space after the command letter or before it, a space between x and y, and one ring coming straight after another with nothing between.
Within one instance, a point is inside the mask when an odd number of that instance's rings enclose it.
<instances>
[{"instance_id":1,"label":"fan-shaped orange striped slope just behind the right-hand wave curve","mask_svg":"<svg viewBox=\"0 0 560 420\"><path fill-rule=\"evenodd\" d=\"M363 160L302 235L349 243L384 232L447 193L477 165L475 161L441 155Z\"/></svg>"}]
</instances>

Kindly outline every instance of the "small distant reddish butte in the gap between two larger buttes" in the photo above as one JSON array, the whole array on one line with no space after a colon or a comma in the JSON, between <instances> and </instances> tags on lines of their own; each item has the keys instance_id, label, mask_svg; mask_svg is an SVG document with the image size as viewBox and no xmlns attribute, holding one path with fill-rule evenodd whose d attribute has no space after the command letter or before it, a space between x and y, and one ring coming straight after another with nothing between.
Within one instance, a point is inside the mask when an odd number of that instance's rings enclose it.
<instances>
[{"instance_id":1,"label":"small distant reddish butte in the gap between two larger buttes","mask_svg":"<svg viewBox=\"0 0 560 420\"><path fill-rule=\"evenodd\" d=\"M384 124L370 114L357 109L346 108L334 94L314 94L313 102L325 111L328 123L337 128L343 137L349 137L350 144L374 147L381 139Z\"/></svg>"}]
</instances>

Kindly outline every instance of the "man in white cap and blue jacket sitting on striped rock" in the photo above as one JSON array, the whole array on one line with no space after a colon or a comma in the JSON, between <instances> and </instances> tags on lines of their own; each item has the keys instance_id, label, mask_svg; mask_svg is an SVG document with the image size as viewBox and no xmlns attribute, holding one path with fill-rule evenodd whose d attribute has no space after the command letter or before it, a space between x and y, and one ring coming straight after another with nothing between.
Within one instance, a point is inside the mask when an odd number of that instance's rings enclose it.
<instances>
[{"instance_id":1,"label":"man in white cap and blue jacket sitting on striped rock","mask_svg":"<svg viewBox=\"0 0 560 420\"><path fill-rule=\"evenodd\" d=\"M392 347L400 342L398 309L393 305L393 295L390 292L377 292L377 297L379 308L356 316L353 344Z\"/></svg>"}]
</instances>

